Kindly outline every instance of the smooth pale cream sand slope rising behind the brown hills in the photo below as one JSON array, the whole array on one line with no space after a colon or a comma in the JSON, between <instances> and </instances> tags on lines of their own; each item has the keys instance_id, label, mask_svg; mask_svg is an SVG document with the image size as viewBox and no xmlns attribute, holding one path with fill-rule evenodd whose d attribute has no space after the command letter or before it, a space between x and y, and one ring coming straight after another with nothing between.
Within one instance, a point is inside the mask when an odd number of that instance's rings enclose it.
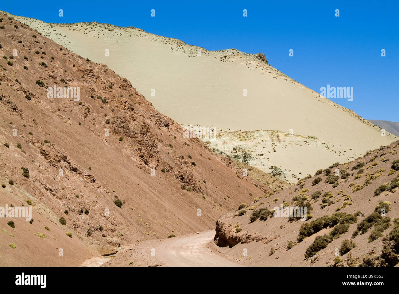
<instances>
[{"instance_id":1,"label":"smooth pale cream sand slope rising behind the brown hills","mask_svg":"<svg viewBox=\"0 0 399 294\"><path fill-rule=\"evenodd\" d=\"M236 49L207 51L133 27L96 22L46 24L14 17L71 51L105 63L128 78L158 111L180 124L213 126L223 132L288 133L292 129L300 137L316 137L307 144L284 141L281 148L275 148L276 152L268 150L275 153L269 158L258 156L261 153L257 153L257 148L248 146L251 155L260 161L257 166L270 171L269 167L278 165L287 171L287 180L292 180L291 174L312 174L333 162L352 160L369 149L397 140L391 134L381 136L379 127L321 97L256 55ZM109 57L105 56L106 49ZM155 96L151 96L152 89ZM248 96L243 96L244 89ZM227 137L226 140L232 138L231 134ZM237 142L233 139L231 143ZM272 142L265 145L273 147ZM211 143L210 147L220 149L220 144Z\"/></svg>"}]
</instances>

